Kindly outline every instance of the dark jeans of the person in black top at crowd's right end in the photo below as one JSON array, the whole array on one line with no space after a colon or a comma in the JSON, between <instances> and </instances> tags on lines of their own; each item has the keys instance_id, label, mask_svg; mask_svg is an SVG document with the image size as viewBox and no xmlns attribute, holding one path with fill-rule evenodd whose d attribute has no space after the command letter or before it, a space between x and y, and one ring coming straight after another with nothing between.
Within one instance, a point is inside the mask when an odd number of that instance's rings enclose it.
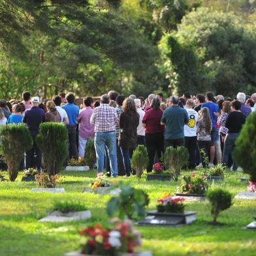
<instances>
[{"instance_id":1,"label":"dark jeans of the person in black top at crowd's right end","mask_svg":"<svg viewBox=\"0 0 256 256\"><path fill-rule=\"evenodd\" d=\"M225 141L224 141L224 149L223 149L223 157L222 157L222 161L221 163L223 163L223 165L228 166L229 164L229 155L234 150L234 142L236 141L236 138L240 135L240 133L229 133L227 134L227 136L225 137ZM236 165L236 161L234 161L234 157L233 158L233 170L237 169L237 165Z\"/></svg>"}]
</instances>

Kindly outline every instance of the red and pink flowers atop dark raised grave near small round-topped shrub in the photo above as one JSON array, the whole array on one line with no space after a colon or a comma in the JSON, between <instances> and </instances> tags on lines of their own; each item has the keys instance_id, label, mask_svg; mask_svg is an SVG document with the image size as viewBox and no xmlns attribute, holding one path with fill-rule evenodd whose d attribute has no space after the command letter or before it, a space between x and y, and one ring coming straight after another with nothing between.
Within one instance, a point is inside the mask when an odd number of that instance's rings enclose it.
<instances>
[{"instance_id":1,"label":"red and pink flowers atop dark raised grave near small round-topped shrub","mask_svg":"<svg viewBox=\"0 0 256 256\"><path fill-rule=\"evenodd\" d=\"M184 213L185 199L182 197L171 197L170 194L165 195L163 198L157 200L157 212L172 212L177 214Z\"/></svg>"}]
</instances>

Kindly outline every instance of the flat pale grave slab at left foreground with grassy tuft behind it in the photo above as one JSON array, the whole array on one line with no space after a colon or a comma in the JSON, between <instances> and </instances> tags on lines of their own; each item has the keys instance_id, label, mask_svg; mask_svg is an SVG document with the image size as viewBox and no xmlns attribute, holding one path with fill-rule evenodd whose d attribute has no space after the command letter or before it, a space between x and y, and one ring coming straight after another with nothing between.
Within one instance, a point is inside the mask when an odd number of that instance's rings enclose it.
<instances>
[{"instance_id":1,"label":"flat pale grave slab at left foreground with grassy tuft behind it","mask_svg":"<svg viewBox=\"0 0 256 256\"><path fill-rule=\"evenodd\" d=\"M64 222L64 221L78 221L81 219L89 219L91 212L89 210L79 212L68 212L63 214L60 211L54 211L48 214L48 216L39 219L39 222Z\"/></svg>"}]
</instances>

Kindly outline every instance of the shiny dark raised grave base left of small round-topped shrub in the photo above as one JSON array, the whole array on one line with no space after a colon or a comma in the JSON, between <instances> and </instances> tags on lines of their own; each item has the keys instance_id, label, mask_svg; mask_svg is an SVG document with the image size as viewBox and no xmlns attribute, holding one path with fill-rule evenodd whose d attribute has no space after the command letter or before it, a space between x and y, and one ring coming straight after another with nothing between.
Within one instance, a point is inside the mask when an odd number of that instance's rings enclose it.
<instances>
[{"instance_id":1,"label":"shiny dark raised grave base left of small round-topped shrub","mask_svg":"<svg viewBox=\"0 0 256 256\"><path fill-rule=\"evenodd\" d=\"M197 219L197 212L184 212L182 214L172 212L152 211L147 213L147 217L138 221L138 225L157 226L180 226L188 225Z\"/></svg>"}]
</instances>

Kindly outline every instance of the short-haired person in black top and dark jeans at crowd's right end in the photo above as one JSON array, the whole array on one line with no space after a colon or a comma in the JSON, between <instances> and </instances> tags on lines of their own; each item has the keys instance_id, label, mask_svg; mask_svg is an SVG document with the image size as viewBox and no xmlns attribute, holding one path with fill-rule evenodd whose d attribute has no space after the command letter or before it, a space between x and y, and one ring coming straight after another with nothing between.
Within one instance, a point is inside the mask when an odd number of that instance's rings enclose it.
<instances>
[{"instance_id":1,"label":"short-haired person in black top and dark jeans at crowd's right end","mask_svg":"<svg viewBox=\"0 0 256 256\"><path fill-rule=\"evenodd\" d=\"M223 157L222 163L227 166L229 162L229 155L234 150L234 142L236 138L240 135L242 125L246 122L246 116L240 111L241 103L240 101L232 101L231 103L231 113L227 116L225 127L229 129L227 136L224 141ZM237 170L236 162L233 158L233 170Z\"/></svg>"}]
</instances>

